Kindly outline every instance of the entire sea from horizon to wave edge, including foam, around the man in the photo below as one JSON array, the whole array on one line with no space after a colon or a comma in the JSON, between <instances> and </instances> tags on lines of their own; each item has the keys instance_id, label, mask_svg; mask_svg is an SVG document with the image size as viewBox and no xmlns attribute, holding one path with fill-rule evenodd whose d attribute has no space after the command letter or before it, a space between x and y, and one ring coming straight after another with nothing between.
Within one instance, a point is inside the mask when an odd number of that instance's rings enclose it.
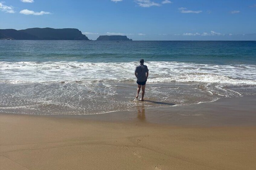
<instances>
[{"instance_id":1,"label":"entire sea from horizon to wave edge, including foam, around the man","mask_svg":"<svg viewBox=\"0 0 256 170\"><path fill-rule=\"evenodd\" d=\"M144 102L135 67L149 68ZM89 115L256 95L256 41L0 41L0 112Z\"/></svg>"}]
</instances>

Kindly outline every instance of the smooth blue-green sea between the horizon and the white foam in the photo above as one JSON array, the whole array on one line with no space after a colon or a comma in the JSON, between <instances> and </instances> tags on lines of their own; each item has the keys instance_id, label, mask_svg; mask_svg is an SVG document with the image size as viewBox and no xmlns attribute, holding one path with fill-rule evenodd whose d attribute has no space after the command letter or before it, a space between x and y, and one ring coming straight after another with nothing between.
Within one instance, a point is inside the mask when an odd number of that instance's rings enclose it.
<instances>
[{"instance_id":1,"label":"smooth blue-green sea between the horizon and the white foam","mask_svg":"<svg viewBox=\"0 0 256 170\"><path fill-rule=\"evenodd\" d=\"M0 61L256 64L256 41L0 41Z\"/></svg>"}]
</instances>

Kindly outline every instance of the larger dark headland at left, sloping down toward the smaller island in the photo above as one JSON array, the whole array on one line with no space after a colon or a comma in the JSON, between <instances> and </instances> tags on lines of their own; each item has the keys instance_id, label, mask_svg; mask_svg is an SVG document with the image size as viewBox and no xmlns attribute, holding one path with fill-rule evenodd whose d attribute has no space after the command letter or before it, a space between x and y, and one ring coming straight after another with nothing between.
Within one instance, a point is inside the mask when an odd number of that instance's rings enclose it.
<instances>
[{"instance_id":1,"label":"larger dark headland at left, sloping down toward the smaller island","mask_svg":"<svg viewBox=\"0 0 256 170\"><path fill-rule=\"evenodd\" d=\"M15 40L89 40L75 28L0 29L0 39Z\"/></svg>"}]
</instances>

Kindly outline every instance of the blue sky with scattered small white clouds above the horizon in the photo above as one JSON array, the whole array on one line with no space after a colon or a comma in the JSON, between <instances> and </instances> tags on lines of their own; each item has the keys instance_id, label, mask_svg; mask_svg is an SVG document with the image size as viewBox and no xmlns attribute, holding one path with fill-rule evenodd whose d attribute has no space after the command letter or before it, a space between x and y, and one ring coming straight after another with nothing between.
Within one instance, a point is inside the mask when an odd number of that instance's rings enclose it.
<instances>
[{"instance_id":1,"label":"blue sky with scattered small white clouds above the horizon","mask_svg":"<svg viewBox=\"0 0 256 170\"><path fill-rule=\"evenodd\" d=\"M92 40L256 40L256 0L0 0L0 19L0 29L77 28Z\"/></svg>"}]
</instances>

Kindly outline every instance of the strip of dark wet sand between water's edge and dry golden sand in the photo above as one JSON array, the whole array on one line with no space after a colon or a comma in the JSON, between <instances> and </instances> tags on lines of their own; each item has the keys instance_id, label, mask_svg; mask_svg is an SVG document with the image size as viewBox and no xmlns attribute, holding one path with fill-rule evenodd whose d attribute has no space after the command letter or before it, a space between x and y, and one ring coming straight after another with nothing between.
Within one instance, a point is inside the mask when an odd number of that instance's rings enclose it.
<instances>
[{"instance_id":1,"label":"strip of dark wet sand between water's edge and dry golden sand","mask_svg":"<svg viewBox=\"0 0 256 170\"><path fill-rule=\"evenodd\" d=\"M256 125L255 103L256 96L244 96L226 97L213 102L185 106L146 108L142 105L136 106L136 111L113 111L91 115L18 115L100 122L139 122L174 126L253 126ZM16 114L10 113L7 115Z\"/></svg>"}]
</instances>

